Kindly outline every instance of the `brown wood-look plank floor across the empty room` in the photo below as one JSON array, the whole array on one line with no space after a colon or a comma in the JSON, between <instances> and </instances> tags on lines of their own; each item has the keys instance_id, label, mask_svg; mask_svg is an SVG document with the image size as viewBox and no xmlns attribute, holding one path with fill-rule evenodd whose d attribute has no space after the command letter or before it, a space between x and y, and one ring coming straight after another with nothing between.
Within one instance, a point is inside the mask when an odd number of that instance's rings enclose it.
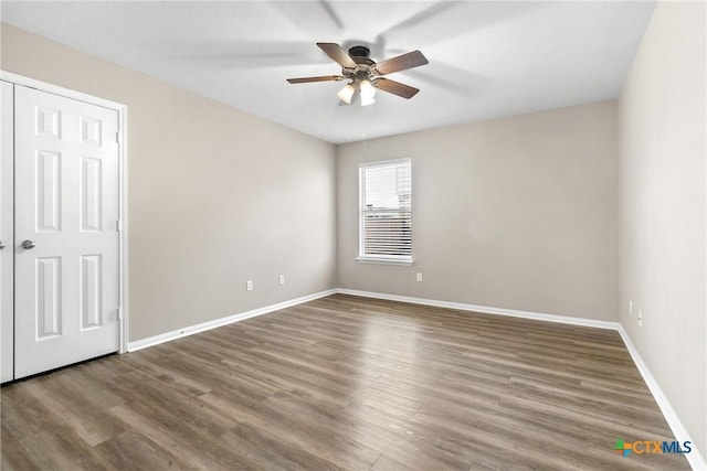
<instances>
[{"instance_id":1,"label":"brown wood-look plank floor across the empty room","mask_svg":"<svg viewBox=\"0 0 707 471\"><path fill-rule=\"evenodd\" d=\"M679 470L613 331L336 295L2 387L2 470Z\"/></svg>"}]
</instances>

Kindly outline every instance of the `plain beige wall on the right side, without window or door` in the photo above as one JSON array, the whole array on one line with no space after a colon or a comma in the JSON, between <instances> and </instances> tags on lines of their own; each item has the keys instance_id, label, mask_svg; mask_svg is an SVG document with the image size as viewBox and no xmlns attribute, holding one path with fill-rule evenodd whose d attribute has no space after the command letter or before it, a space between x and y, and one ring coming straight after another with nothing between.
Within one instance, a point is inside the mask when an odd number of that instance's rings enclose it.
<instances>
[{"instance_id":1,"label":"plain beige wall on the right side, without window or door","mask_svg":"<svg viewBox=\"0 0 707 471\"><path fill-rule=\"evenodd\" d=\"M659 2L619 106L621 323L703 456L705 54L705 3Z\"/></svg>"}]
</instances>

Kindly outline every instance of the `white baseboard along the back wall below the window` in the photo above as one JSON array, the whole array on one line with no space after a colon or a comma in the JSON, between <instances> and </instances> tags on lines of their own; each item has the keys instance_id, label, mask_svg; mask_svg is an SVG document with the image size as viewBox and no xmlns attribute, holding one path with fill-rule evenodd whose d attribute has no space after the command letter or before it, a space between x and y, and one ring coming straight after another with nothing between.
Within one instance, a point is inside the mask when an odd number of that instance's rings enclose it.
<instances>
[{"instance_id":1,"label":"white baseboard along the back wall below the window","mask_svg":"<svg viewBox=\"0 0 707 471\"><path fill-rule=\"evenodd\" d=\"M389 301L411 302L413 304L433 306L435 308L457 309L460 311L474 311L484 314L506 315L511 318L532 319L536 321L558 322L561 324L582 325L597 329L619 330L619 322L598 321L594 319L570 318L569 315L545 314L540 312L517 311L515 309L489 308L487 306L466 304L463 302L439 301L436 299L411 298L408 296L386 295L382 292L358 291L354 289L337 289L341 295L360 296L363 298L386 299Z\"/></svg>"}]
</instances>

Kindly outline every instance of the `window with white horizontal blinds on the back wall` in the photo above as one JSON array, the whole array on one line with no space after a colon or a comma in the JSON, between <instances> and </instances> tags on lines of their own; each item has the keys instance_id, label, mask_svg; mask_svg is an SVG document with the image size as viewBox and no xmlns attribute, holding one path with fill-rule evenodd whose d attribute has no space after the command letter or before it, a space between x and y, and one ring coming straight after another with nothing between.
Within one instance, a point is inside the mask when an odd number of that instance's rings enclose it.
<instances>
[{"instance_id":1,"label":"window with white horizontal blinds on the back wall","mask_svg":"<svg viewBox=\"0 0 707 471\"><path fill-rule=\"evenodd\" d=\"M360 179L359 261L412 264L410 160L363 164Z\"/></svg>"}]
</instances>

